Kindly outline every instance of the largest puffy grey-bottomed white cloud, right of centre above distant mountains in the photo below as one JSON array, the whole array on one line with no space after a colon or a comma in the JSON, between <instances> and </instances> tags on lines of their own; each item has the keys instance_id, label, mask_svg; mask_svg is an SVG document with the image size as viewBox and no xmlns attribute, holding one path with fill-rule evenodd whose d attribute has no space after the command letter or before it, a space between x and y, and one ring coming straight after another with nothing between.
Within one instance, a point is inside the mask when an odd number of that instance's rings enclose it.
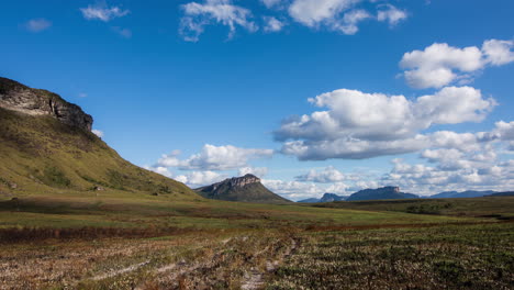
<instances>
[{"instance_id":1,"label":"largest puffy grey-bottomed white cloud, right of centre above distant mountains","mask_svg":"<svg viewBox=\"0 0 514 290\"><path fill-rule=\"evenodd\" d=\"M282 153L303 160L416 152L445 140L444 133L424 135L423 130L480 122L496 104L470 87L447 87L415 100L340 89L309 101L328 110L290 118L273 133L277 141L284 142Z\"/></svg>"}]
</instances>

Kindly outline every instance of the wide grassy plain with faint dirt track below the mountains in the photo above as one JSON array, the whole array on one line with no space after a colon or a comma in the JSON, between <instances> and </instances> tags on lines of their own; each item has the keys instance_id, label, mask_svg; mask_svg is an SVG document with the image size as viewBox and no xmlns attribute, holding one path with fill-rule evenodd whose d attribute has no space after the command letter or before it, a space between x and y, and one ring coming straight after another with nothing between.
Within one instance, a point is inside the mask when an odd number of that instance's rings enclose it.
<instances>
[{"instance_id":1,"label":"wide grassy plain with faint dirt track below the mountains","mask_svg":"<svg viewBox=\"0 0 514 290\"><path fill-rule=\"evenodd\" d=\"M459 214L421 214L357 202L340 209L177 201L116 190L88 194L0 201L0 289L512 289L514 283L514 224L477 214L471 202L460 204ZM512 198L493 201L490 209L512 214Z\"/></svg>"}]
</instances>

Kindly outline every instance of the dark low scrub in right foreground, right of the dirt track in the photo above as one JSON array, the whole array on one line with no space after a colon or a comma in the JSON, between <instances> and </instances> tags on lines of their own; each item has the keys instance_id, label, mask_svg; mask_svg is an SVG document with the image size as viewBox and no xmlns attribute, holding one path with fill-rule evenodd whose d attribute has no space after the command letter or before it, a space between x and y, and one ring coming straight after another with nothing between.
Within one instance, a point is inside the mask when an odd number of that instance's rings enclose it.
<instances>
[{"instance_id":1,"label":"dark low scrub in right foreground, right of the dirt track","mask_svg":"<svg viewBox=\"0 0 514 290\"><path fill-rule=\"evenodd\" d=\"M268 289L512 289L514 224L302 235Z\"/></svg>"}]
</instances>

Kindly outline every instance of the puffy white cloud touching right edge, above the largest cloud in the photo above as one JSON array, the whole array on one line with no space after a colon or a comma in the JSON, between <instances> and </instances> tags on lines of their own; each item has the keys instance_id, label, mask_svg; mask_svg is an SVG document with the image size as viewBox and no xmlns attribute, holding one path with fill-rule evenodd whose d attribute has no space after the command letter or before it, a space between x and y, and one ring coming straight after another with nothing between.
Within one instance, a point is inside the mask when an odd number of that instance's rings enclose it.
<instances>
[{"instance_id":1,"label":"puffy white cloud touching right edge, above the largest cloud","mask_svg":"<svg viewBox=\"0 0 514 290\"><path fill-rule=\"evenodd\" d=\"M442 88L455 81L469 82L473 72L487 66L514 62L513 41L485 41L482 48L458 48L434 43L423 51L405 53L400 67L409 86L417 89Z\"/></svg>"}]
</instances>

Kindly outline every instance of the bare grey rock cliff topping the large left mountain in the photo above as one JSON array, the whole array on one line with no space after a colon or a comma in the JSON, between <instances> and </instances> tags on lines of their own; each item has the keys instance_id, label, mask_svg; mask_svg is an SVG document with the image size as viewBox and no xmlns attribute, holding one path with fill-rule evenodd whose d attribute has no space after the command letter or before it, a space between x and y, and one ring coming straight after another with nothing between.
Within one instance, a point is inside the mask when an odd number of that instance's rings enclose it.
<instances>
[{"instance_id":1,"label":"bare grey rock cliff topping the large left mountain","mask_svg":"<svg viewBox=\"0 0 514 290\"><path fill-rule=\"evenodd\" d=\"M60 122L91 131L93 119L58 94L0 78L0 107L31 115L52 115Z\"/></svg>"}]
</instances>

